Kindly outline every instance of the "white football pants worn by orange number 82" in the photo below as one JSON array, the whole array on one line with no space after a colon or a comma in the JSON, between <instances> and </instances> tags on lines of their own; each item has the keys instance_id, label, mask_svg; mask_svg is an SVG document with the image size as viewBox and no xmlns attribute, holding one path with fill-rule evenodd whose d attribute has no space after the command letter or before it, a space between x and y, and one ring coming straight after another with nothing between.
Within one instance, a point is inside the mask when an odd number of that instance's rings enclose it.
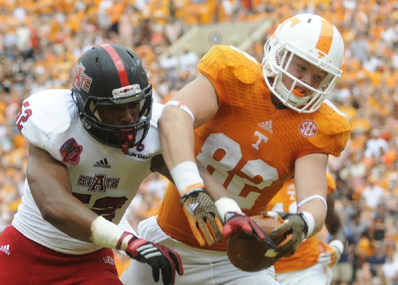
<instances>
[{"instance_id":1,"label":"white football pants worn by orange number 82","mask_svg":"<svg viewBox=\"0 0 398 285\"><path fill-rule=\"evenodd\" d=\"M139 237L159 243L176 251L183 262L184 275L176 273L176 285L279 285L275 280L274 267L259 272L244 272L234 267L226 252L201 250L187 246L166 235L159 227L156 217L150 217L138 225ZM121 274L124 285L159 285L152 278L149 265L131 260Z\"/></svg>"}]
</instances>

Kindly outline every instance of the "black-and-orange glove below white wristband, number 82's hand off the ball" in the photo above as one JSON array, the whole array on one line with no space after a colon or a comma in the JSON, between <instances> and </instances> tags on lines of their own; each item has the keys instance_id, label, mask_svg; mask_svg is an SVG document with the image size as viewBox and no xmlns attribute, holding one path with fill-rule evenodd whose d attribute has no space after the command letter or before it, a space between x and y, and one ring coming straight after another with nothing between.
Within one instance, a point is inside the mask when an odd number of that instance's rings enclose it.
<instances>
[{"instance_id":1,"label":"black-and-orange glove below white wristband, number 82's hand off the ball","mask_svg":"<svg viewBox=\"0 0 398 285\"><path fill-rule=\"evenodd\" d=\"M202 187L194 187L181 197L192 233L200 246L222 240L222 219L213 200Z\"/></svg>"}]
</instances>

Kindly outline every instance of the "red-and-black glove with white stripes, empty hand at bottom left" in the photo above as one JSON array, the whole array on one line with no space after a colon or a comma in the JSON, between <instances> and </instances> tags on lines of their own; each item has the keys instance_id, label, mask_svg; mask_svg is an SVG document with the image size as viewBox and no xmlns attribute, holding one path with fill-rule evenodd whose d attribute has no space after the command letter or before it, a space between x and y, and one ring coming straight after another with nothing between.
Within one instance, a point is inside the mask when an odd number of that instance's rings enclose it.
<instances>
[{"instance_id":1,"label":"red-and-black glove with white stripes, empty hand at bottom left","mask_svg":"<svg viewBox=\"0 0 398 285\"><path fill-rule=\"evenodd\" d=\"M176 270L179 275L184 274L181 258L175 251L133 236L127 243L126 254L136 261L147 263L152 267L155 282L159 281L159 271L162 271L164 285L173 285Z\"/></svg>"}]
</instances>

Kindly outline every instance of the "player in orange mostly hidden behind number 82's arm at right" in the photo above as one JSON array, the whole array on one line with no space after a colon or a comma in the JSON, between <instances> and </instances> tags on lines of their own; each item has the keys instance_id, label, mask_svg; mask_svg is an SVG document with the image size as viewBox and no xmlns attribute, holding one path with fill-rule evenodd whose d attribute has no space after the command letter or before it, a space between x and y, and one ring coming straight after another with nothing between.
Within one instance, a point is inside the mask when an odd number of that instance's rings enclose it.
<instances>
[{"instance_id":1,"label":"player in orange mostly hidden behind number 82's arm at right","mask_svg":"<svg viewBox=\"0 0 398 285\"><path fill-rule=\"evenodd\" d=\"M332 241L329 244L318 241L316 235L302 242L291 257L281 258L274 265L278 281L282 285L325 285L330 284L327 273L338 262L344 250L346 235L340 217L334 210L336 182L330 173L327 177L327 212L325 225ZM285 182L282 189L268 204L269 211L297 213L295 180Z\"/></svg>"}]
</instances>

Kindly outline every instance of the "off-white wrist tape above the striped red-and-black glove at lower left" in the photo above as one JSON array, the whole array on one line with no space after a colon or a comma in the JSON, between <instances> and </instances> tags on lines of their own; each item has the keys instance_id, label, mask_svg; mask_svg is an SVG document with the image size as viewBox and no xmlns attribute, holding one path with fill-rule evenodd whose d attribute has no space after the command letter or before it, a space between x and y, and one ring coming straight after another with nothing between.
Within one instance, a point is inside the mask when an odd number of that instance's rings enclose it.
<instances>
[{"instance_id":1,"label":"off-white wrist tape above the striped red-and-black glove at lower left","mask_svg":"<svg viewBox=\"0 0 398 285\"><path fill-rule=\"evenodd\" d=\"M117 243L124 231L118 226L109 222L104 217L99 216L91 224L91 240L96 246L103 248L117 248ZM120 249L125 250L127 242L133 237L133 234L126 235L121 242Z\"/></svg>"}]
</instances>

